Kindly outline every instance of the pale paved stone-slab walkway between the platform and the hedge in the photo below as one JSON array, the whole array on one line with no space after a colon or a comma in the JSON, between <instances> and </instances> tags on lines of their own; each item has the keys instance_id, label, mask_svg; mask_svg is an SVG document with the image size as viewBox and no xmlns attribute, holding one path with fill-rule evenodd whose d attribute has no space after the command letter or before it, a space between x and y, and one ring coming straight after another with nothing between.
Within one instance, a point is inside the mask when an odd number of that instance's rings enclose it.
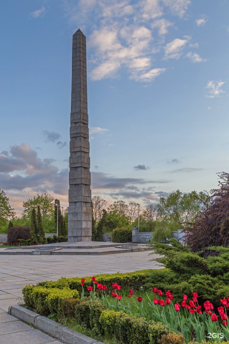
<instances>
[{"instance_id":1,"label":"pale paved stone-slab walkway between the platform and the hedge","mask_svg":"<svg viewBox=\"0 0 229 344\"><path fill-rule=\"evenodd\" d=\"M149 251L101 256L0 256L0 343L60 344L54 338L33 329L7 314L9 305L22 298L22 288L44 280L63 277L95 276L100 273L157 269L156 257Z\"/></svg>"}]
</instances>

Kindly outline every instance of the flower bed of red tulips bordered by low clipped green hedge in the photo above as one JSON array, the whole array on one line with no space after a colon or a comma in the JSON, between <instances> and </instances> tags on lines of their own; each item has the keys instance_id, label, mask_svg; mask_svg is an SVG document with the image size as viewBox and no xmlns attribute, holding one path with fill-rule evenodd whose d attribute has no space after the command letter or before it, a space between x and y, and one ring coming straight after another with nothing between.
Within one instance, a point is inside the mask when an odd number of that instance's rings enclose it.
<instances>
[{"instance_id":1,"label":"flower bed of red tulips bordered by low clipped green hedge","mask_svg":"<svg viewBox=\"0 0 229 344\"><path fill-rule=\"evenodd\" d=\"M170 290L163 296L154 287L151 295L136 297L131 288L125 296L117 282L112 283L112 292L108 292L110 288L96 279L95 276L80 279L81 299L76 290L70 290L68 279L57 281L60 289L51 281L43 286L26 286L23 289L26 307L42 315L56 314L59 321L75 318L95 334L115 338L117 344L183 344L192 339L205 343L206 337L218 338L219 342L229 340L229 297L221 299L222 305L214 311L208 300L203 307L198 304L197 292L193 292L190 301L183 295L179 303L173 302ZM85 291L89 296L85 296Z\"/></svg>"}]
</instances>

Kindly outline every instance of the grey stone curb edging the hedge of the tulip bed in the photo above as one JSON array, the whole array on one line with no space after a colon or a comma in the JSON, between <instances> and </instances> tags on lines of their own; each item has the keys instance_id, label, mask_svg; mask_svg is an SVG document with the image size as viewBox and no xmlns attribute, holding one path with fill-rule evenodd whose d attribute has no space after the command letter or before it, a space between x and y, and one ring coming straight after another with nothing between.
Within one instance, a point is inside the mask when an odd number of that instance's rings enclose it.
<instances>
[{"instance_id":1,"label":"grey stone curb edging the hedge of the tulip bed","mask_svg":"<svg viewBox=\"0 0 229 344\"><path fill-rule=\"evenodd\" d=\"M9 306L8 313L66 344L104 344L19 305Z\"/></svg>"}]
</instances>

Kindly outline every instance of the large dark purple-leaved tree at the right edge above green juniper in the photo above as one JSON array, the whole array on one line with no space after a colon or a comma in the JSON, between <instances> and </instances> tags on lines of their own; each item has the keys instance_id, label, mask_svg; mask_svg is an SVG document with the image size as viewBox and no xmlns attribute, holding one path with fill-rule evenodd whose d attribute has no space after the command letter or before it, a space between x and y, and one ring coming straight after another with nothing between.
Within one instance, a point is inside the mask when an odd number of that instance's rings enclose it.
<instances>
[{"instance_id":1,"label":"large dark purple-leaved tree at the right edge above green juniper","mask_svg":"<svg viewBox=\"0 0 229 344\"><path fill-rule=\"evenodd\" d=\"M184 229L184 241L198 252L209 246L229 246L229 173L218 173L219 189L210 190L203 211Z\"/></svg>"}]
</instances>

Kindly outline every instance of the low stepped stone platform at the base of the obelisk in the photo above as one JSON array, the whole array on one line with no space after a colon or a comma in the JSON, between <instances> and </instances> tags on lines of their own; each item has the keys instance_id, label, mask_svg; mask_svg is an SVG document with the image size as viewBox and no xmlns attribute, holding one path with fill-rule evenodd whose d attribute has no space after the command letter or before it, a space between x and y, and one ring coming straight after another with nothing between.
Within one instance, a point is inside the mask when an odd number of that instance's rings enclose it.
<instances>
[{"instance_id":1,"label":"low stepped stone platform at the base of the obelisk","mask_svg":"<svg viewBox=\"0 0 229 344\"><path fill-rule=\"evenodd\" d=\"M149 250L146 244L87 241L0 248L0 255L110 255Z\"/></svg>"}]
</instances>

